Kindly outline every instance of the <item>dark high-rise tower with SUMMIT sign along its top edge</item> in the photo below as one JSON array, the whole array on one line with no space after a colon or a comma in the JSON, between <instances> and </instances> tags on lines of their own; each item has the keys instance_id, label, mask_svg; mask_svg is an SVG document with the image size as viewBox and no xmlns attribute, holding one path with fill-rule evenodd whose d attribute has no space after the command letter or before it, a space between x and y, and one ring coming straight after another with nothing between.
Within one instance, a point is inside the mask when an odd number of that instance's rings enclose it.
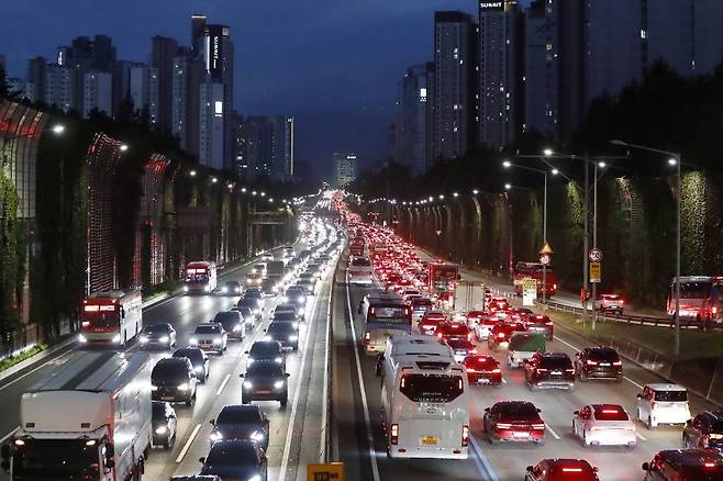
<instances>
[{"instance_id":1,"label":"dark high-rise tower with SUMMIT sign along its top edge","mask_svg":"<svg viewBox=\"0 0 723 481\"><path fill-rule=\"evenodd\" d=\"M522 22L516 0L479 3L479 143L500 148L521 130Z\"/></svg>"}]
</instances>

